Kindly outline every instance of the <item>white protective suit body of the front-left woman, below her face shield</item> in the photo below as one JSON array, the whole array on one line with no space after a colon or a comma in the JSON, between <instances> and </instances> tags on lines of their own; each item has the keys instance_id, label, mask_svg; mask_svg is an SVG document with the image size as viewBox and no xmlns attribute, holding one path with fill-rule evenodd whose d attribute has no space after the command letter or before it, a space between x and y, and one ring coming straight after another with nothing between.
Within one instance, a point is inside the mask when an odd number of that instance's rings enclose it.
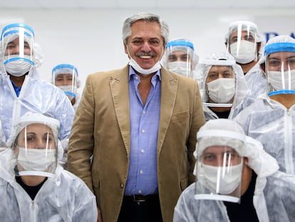
<instances>
[{"instance_id":1,"label":"white protective suit body of the front-left woman, below her face shield","mask_svg":"<svg viewBox=\"0 0 295 222\"><path fill-rule=\"evenodd\" d=\"M97 221L95 196L86 184L61 166L32 201L9 171L11 148L0 153L0 216L3 222Z\"/></svg>"}]
</instances>

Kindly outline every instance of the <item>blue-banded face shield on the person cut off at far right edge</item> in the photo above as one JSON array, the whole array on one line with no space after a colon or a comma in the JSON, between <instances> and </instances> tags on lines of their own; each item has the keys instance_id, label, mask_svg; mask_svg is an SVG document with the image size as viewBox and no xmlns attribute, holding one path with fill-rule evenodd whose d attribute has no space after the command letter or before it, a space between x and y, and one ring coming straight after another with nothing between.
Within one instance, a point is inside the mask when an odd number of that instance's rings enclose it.
<instances>
[{"instance_id":1,"label":"blue-banded face shield on the person cut off at far right edge","mask_svg":"<svg viewBox=\"0 0 295 222\"><path fill-rule=\"evenodd\" d=\"M295 94L295 43L268 44L264 51L268 95Z\"/></svg>"}]
</instances>

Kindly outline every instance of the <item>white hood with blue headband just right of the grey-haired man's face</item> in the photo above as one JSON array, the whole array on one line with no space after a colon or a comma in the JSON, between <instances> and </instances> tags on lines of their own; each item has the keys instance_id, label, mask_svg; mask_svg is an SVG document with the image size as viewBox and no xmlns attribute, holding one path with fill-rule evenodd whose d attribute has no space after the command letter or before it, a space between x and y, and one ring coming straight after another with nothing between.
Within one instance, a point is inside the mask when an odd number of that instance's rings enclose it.
<instances>
[{"instance_id":1,"label":"white hood with blue headband just right of the grey-haired man's face","mask_svg":"<svg viewBox=\"0 0 295 222\"><path fill-rule=\"evenodd\" d=\"M195 53L195 47L194 44L192 44L192 41L185 38L177 38L172 39L167 42L165 48L170 47L172 51L190 51L190 54L192 55L192 69L195 69L197 66L197 63L199 62L199 56ZM164 67L167 67L167 58L166 54L162 56L162 65Z\"/></svg>"}]
</instances>

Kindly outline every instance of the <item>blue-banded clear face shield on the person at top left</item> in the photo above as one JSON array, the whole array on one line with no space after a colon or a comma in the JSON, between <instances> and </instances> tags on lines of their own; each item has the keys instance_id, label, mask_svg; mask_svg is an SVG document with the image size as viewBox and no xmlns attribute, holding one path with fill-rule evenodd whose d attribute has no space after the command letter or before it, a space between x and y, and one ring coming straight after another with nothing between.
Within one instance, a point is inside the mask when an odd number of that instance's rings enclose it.
<instances>
[{"instance_id":1,"label":"blue-banded clear face shield on the person at top left","mask_svg":"<svg viewBox=\"0 0 295 222\"><path fill-rule=\"evenodd\" d=\"M33 66L33 31L26 27L7 28L1 35L4 65L10 61L23 60Z\"/></svg>"}]
</instances>

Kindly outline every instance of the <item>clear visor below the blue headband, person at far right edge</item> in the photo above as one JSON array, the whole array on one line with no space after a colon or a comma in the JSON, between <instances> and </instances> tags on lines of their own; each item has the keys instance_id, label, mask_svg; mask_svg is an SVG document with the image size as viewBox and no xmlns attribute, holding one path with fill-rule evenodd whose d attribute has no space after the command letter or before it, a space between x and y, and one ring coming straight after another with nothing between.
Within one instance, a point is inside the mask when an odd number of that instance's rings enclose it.
<instances>
[{"instance_id":1,"label":"clear visor below the blue headband, person at far right edge","mask_svg":"<svg viewBox=\"0 0 295 222\"><path fill-rule=\"evenodd\" d=\"M266 56L269 96L295 94L295 51L276 51Z\"/></svg>"}]
</instances>

